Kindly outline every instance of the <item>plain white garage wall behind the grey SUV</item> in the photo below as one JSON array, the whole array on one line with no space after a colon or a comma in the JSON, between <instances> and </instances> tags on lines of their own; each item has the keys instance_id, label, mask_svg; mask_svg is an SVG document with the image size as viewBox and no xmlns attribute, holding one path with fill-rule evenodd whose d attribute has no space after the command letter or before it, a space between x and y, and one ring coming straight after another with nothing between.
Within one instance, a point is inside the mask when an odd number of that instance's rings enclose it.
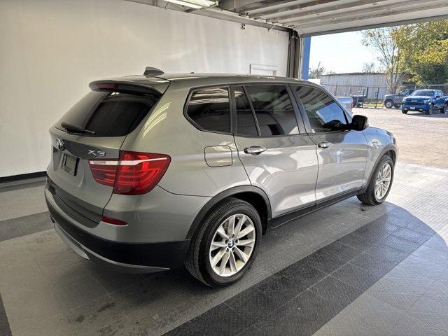
<instances>
[{"instance_id":1,"label":"plain white garage wall behind the grey SUV","mask_svg":"<svg viewBox=\"0 0 448 336\"><path fill-rule=\"evenodd\" d=\"M286 74L288 34L123 0L0 1L0 177L41 172L48 129L95 79L165 72Z\"/></svg>"}]
</instances>

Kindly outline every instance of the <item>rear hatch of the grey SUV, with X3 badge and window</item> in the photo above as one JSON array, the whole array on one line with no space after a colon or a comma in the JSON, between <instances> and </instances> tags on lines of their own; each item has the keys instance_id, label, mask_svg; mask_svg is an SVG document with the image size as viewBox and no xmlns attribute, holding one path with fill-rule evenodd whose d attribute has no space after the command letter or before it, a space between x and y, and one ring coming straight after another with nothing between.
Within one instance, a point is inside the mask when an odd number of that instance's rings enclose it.
<instances>
[{"instance_id":1,"label":"rear hatch of the grey SUV, with X3 badge and window","mask_svg":"<svg viewBox=\"0 0 448 336\"><path fill-rule=\"evenodd\" d=\"M95 181L90 163L118 160L127 134L151 113L169 85L160 78L151 83L144 77L144 84L126 79L91 83L92 91L50 129L50 192L62 209L69 207L92 225L101 221L113 185L110 172L103 173L99 165L94 166Z\"/></svg>"}]
</instances>

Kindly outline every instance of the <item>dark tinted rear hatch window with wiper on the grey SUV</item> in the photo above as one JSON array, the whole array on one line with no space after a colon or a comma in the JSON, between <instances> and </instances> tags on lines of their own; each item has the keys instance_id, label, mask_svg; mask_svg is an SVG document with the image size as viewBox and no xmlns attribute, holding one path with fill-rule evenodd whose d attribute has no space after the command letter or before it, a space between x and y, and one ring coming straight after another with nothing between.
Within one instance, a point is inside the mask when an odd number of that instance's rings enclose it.
<instances>
[{"instance_id":1,"label":"dark tinted rear hatch window with wiper on the grey SUV","mask_svg":"<svg viewBox=\"0 0 448 336\"><path fill-rule=\"evenodd\" d=\"M67 123L94 134L86 137L123 137L132 132L160 99L160 95L137 95L121 92L89 92L57 123Z\"/></svg>"}]
</instances>

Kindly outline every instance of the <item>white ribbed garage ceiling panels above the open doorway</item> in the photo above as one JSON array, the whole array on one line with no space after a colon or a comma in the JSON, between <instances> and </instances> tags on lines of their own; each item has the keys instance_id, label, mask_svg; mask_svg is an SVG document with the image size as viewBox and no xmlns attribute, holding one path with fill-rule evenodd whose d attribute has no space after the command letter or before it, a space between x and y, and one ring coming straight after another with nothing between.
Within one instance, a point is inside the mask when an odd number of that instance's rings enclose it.
<instances>
[{"instance_id":1,"label":"white ribbed garage ceiling panels above the open doorway","mask_svg":"<svg viewBox=\"0 0 448 336\"><path fill-rule=\"evenodd\" d=\"M221 0L192 9L163 0L127 0L211 18L321 35L448 17L448 0Z\"/></svg>"}]
</instances>

